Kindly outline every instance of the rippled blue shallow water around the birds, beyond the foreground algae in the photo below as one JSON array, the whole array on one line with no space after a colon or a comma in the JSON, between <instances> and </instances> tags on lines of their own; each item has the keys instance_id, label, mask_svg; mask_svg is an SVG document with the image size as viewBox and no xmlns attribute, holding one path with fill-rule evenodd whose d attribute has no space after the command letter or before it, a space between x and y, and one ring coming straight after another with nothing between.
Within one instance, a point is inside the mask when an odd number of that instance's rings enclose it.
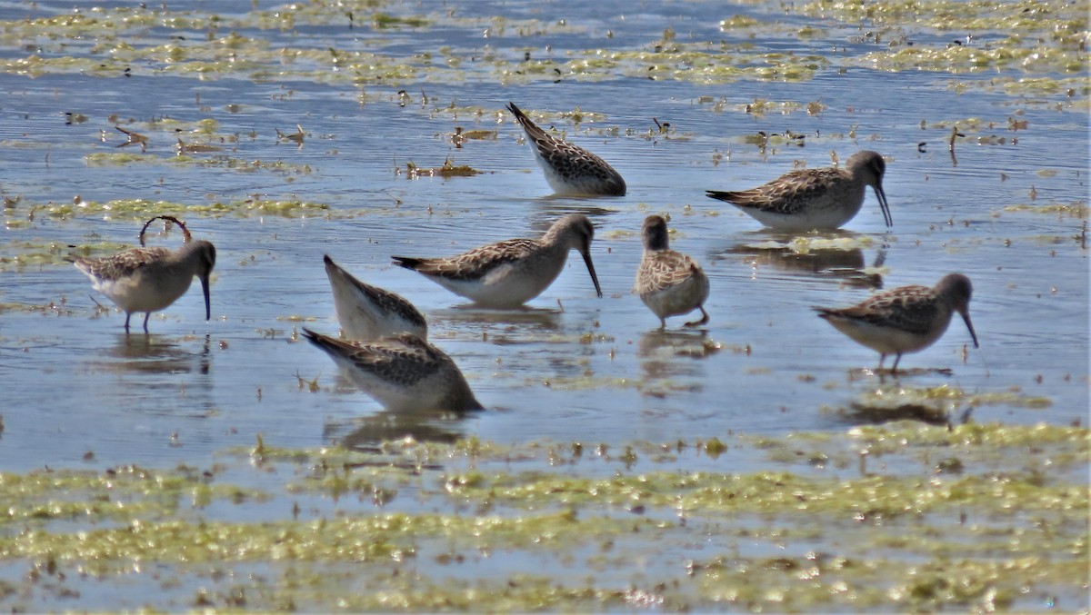
<instances>
[{"instance_id":1,"label":"rippled blue shallow water around the birds, beyond the foreground algae","mask_svg":"<svg viewBox=\"0 0 1091 615\"><path fill-rule=\"evenodd\" d=\"M0 191L17 200L4 208L0 248L0 469L169 468L250 446L257 434L288 448L367 447L406 433L619 447L840 432L859 421L847 414L853 402L891 384L980 396L971 414L978 422L1086 424L1086 81L1071 92L1065 82L1054 91L1006 93L992 84L1081 75L1034 64L887 72L867 68L865 58L887 49L895 35L984 49L1003 41L1003 31L967 38L880 20L858 27L776 3L710 2L634 12L624 2L473 3L457 15L391 3L387 13L424 15L431 25L372 28L357 16L349 29L334 11L274 27L257 24L272 20L275 7L256 4L271 13L221 14L225 25L212 35L219 43L208 44L204 27L134 27L117 39L96 35L94 26L74 38L34 36L21 31L22 20L70 13L71 3L0 2L7 20ZM203 3L170 3L172 15L204 19L207 11ZM721 29L720 20L732 15L758 25ZM818 34L796 36L807 24ZM664 37L664 28L672 34ZM232 48L228 32L254 44ZM200 76L180 70L185 62L165 61L167 51L141 52L160 45L220 63ZM699 59L687 64L681 55L657 63L657 45L723 49L735 58L729 65L771 64L763 56L771 52L820 61L813 79L751 72L729 80L702 73ZM300 52L260 52L281 48ZM393 76L343 68L327 49L376 53L372 65L389 63ZM597 56L591 49L646 56L579 72L585 58ZM430 58L419 56L425 50ZM523 61L525 53L531 61ZM31 55L87 64L27 74L19 62ZM1078 58L1086 77L1086 56ZM235 61L249 64L232 68ZM353 70L362 86L353 85ZM747 112L759 100L796 105ZM504 110L508 101L547 113L536 119L609 160L628 194L552 196ZM822 109L811 113L808 102ZM574 109L594 116L578 125L559 116ZM65 113L76 120L67 123ZM203 120L215 120L211 135L196 130ZM656 120L670 123L666 133ZM125 137L116 124L147 135L147 152L119 149ZM305 134L301 145L277 138L297 124ZM952 156L947 138L955 124L966 136ZM496 135L456 147L456 126ZM805 145L774 136L763 146L755 136L786 131L805 134ZM179 161L178 138L219 149ZM868 193L843 231L808 238L842 240L851 250L770 249L792 238L704 196L706 189L757 185L798 162L829 165L831 153L843 161L862 148L887 157L894 228L885 229ZM134 159L95 157L119 153ZM440 167L447 158L482 173L407 178L409 161ZM88 205L63 207L76 195ZM184 208L116 203L135 198ZM262 210L253 200L313 206ZM602 299L578 256L514 312L467 306L389 265L392 254L446 255L533 237L570 212L596 224ZM133 245L156 213L182 217L195 237L216 244L213 318L203 321L194 288L153 315L151 335L125 336L123 314L100 310L108 300L61 256L70 244L105 244L95 254ZM680 317L660 333L631 292L640 222L651 213L670 216L672 246L698 258L711 279L705 327L682 329ZM152 243L179 241L176 230ZM489 410L460 419L389 417L326 355L300 342L301 325L337 330L323 254L418 305L432 341L455 358ZM935 346L902 359L909 372L896 379L867 371L876 354L811 310L855 303L878 287L931 286L950 272L973 280L970 312L981 348L972 348L956 318ZM956 418L967 411L964 403L951 410ZM739 471L767 465L760 456L733 461ZM699 457L686 463L717 465Z\"/></svg>"}]
</instances>

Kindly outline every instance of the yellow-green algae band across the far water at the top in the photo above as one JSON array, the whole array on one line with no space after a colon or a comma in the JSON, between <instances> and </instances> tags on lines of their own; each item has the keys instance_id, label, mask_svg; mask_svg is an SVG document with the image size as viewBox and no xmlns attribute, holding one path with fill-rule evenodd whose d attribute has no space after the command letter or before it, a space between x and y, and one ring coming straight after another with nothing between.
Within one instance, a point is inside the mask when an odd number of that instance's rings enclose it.
<instances>
[{"instance_id":1,"label":"yellow-green algae band across the far water at the top","mask_svg":"<svg viewBox=\"0 0 1091 615\"><path fill-rule=\"evenodd\" d=\"M1078 74L1087 70L1088 15L1079 3L1062 1L999 0L956 2L832 2L820 0L781 7L789 15L824 26L786 25L748 15L726 15L724 34L741 40L684 41L670 27L661 40L639 49L589 48L568 51L567 58L517 61L511 57L469 49L443 48L437 53L384 55L359 48L311 48L303 39L248 36L241 32L283 34L315 25L376 33L431 28L468 28L487 39L580 35L590 40L601 32L589 25L505 17L465 17L455 8L427 15L403 13L385 2L345 7L343 2L299 2L274 11L247 13L171 12L148 8L93 8L71 14L0 23L0 43L34 49L4 62L9 72L38 76L80 72L122 76L154 71L197 79L228 74L252 80L303 79L322 83L398 85L427 81L460 82L470 75L503 83L542 79L599 81L639 77L652 80L726 83L744 79L801 81L817 71L864 65L887 71L943 72L996 71L1015 68L1028 73L1056 71ZM858 29L865 21L868 31ZM156 28L180 33L165 44L141 44ZM820 31L856 31L888 50L858 58L792 52L755 53L747 37L811 39ZM87 57L70 55L87 46ZM912 33L912 34L910 34ZM950 34L964 37L954 40ZM603 43L611 38L607 33ZM82 49L81 49L82 50ZM1086 88L1083 88L1086 89ZM1087 97L1087 93L1082 93Z\"/></svg>"}]
</instances>

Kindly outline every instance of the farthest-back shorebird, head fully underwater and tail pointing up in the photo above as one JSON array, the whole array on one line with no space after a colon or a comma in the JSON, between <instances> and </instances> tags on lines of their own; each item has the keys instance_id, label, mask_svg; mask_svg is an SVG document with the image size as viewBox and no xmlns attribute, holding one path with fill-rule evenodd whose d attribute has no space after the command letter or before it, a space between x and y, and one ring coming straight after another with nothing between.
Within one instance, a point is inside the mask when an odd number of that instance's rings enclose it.
<instances>
[{"instance_id":1,"label":"farthest-back shorebird, head fully underwater and tail pointing up","mask_svg":"<svg viewBox=\"0 0 1091 615\"><path fill-rule=\"evenodd\" d=\"M515 102L507 109L527 133L546 181L558 194L624 196L625 180L606 160L538 128Z\"/></svg>"}]
</instances>

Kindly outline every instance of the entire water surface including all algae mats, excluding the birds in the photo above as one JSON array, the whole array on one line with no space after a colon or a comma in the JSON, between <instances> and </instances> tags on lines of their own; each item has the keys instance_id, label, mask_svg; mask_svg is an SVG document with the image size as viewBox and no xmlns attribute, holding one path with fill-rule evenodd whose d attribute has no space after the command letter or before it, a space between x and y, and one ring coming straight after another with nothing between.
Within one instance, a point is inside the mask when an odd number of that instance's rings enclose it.
<instances>
[{"instance_id":1,"label":"entire water surface including all algae mats, excluding the birds","mask_svg":"<svg viewBox=\"0 0 1091 615\"><path fill-rule=\"evenodd\" d=\"M1079 7L247 9L0 5L5 607L1088 607ZM627 195L551 196L508 101ZM871 194L803 236L704 196L864 148L889 232ZM602 299L575 255L520 311L388 264L573 212ZM707 326L630 291L652 213ZM160 214L216 244L213 318L127 337L63 257ZM489 410L386 412L301 342L323 254ZM811 311L950 272L981 349L956 321L897 377Z\"/></svg>"}]
</instances>

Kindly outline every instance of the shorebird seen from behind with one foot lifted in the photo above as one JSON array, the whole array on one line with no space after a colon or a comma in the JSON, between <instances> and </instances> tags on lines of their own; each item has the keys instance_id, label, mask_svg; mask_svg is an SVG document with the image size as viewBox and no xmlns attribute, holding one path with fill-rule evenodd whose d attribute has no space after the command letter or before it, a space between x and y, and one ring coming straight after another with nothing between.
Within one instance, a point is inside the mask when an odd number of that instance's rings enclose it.
<instances>
[{"instance_id":1,"label":"shorebird seen from behind with one foot lifted","mask_svg":"<svg viewBox=\"0 0 1091 615\"><path fill-rule=\"evenodd\" d=\"M667 316L700 310L702 319L686 323L687 327L708 322L705 301L708 299L708 276L690 256L670 249L667 220L648 216L640 230L644 236L644 257L636 270L636 292L657 316L659 328L667 327Z\"/></svg>"}]
</instances>

